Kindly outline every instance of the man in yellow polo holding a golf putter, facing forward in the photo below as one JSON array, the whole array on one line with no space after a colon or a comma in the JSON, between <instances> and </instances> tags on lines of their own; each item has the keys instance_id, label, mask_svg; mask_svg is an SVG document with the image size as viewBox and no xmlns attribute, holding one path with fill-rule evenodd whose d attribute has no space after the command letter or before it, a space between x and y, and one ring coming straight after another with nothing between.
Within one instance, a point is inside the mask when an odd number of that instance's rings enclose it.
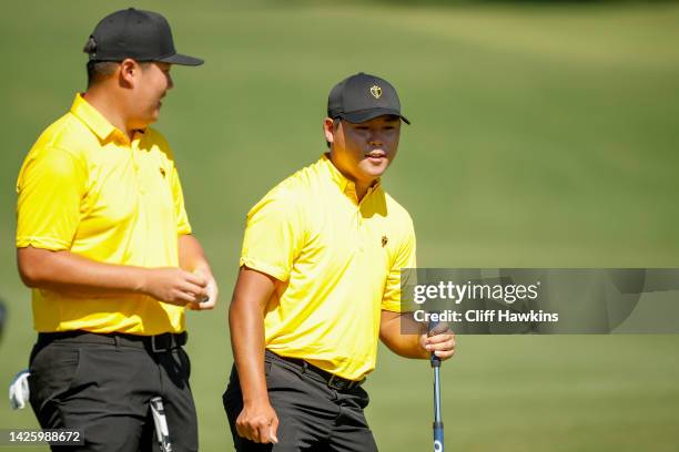
<instances>
[{"instance_id":1,"label":"man in yellow polo holding a golf putter, facing forward","mask_svg":"<svg viewBox=\"0 0 679 452\"><path fill-rule=\"evenodd\" d=\"M449 331L401 335L399 270L415 267L415 233L381 176L402 121L386 80L343 80L323 123L330 152L247 214L223 398L237 451L375 451L361 384L377 339L409 358L454 353Z\"/></svg>"}]
</instances>

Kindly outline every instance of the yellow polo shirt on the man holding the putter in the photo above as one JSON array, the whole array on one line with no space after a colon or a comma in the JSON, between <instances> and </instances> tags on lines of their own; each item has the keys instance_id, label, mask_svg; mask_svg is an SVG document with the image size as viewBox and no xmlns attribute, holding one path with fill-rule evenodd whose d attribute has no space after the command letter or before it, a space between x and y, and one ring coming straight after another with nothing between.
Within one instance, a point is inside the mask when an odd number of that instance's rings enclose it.
<instances>
[{"instance_id":1,"label":"yellow polo shirt on the man holding the putter","mask_svg":"<svg viewBox=\"0 0 679 452\"><path fill-rule=\"evenodd\" d=\"M267 349L358 380L375 368L381 311L401 310L413 222L378 184L358 203L324 155L250 210L241 266L285 282L266 307Z\"/></svg>"}]
</instances>

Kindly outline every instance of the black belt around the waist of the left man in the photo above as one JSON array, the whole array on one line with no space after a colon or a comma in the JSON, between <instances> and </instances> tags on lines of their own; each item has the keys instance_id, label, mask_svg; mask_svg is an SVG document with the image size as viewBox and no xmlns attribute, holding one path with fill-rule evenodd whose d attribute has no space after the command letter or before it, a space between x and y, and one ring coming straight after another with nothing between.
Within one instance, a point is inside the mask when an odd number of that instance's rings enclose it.
<instances>
[{"instance_id":1,"label":"black belt around the waist of the left man","mask_svg":"<svg viewBox=\"0 0 679 452\"><path fill-rule=\"evenodd\" d=\"M186 331L180 333L164 332L155 336L128 335L124 332L90 332L82 330L40 332L38 333L38 346L44 347L50 342L68 340L83 343L105 343L110 346L135 347L148 351L160 353L182 347L186 343L189 335Z\"/></svg>"}]
</instances>

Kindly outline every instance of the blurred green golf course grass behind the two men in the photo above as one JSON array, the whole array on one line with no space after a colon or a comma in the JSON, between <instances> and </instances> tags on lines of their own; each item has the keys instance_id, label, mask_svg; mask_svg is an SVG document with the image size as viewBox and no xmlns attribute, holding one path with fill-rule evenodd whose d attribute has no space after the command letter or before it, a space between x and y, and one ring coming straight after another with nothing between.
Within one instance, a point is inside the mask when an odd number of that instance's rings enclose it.
<instances>
[{"instance_id":1,"label":"blurred green golf course grass behind the two men","mask_svg":"<svg viewBox=\"0 0 679 452\"><path fill-rule=\"evenodd\" d=\"M34 340L14 264L16 175L84 89L94 24L129 6L24 1L0 17L0 388ZM207 61L173 70L158 124L222 291L215 311L189 319L202 450L232 450L224 315L245 213L324 151L327 92L352 73L393 82L413 122L385 182L415 219L420 266L679 267L675 2L135 6L165 14L178 49ZM448 450L679 448L677 336L458 342L443 369ZM367 417L382 450L430 450L430 373L381 350ZM0 403L0 429L36 425L30 409Z\"/></svg>"}]
</instances>

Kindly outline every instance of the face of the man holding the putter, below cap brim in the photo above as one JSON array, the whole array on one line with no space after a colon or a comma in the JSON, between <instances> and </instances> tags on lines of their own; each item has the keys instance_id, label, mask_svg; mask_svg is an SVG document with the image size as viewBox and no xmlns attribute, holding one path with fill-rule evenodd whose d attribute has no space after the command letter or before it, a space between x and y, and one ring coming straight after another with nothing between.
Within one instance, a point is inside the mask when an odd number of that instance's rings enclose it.
<instances>
[{"instance_id":1,"label":"face of the man holding the putter, below cap brim","mask_svg":"<svg viewBox=\"0 0 679 452\"><path fill-rule=\"evenodd\" d=\"M327 136L331 125L333 132ZM335 166L354 182L371 185L396 157L401 119L386 115L359 124L327 119L325 130L326 138L332 137Z\"/></svg>"}]
</instances>

